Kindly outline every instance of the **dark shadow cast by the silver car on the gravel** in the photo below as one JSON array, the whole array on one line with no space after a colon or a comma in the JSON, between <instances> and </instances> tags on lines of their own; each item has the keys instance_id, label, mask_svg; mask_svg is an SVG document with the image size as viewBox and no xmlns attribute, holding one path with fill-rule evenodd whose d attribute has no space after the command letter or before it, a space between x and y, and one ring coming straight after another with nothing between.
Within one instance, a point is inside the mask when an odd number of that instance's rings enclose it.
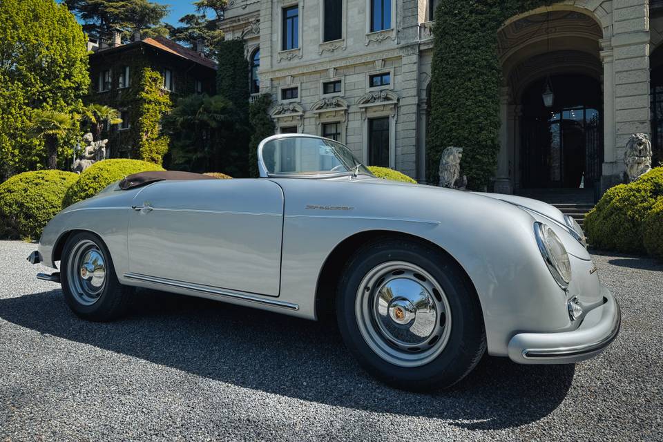
<instances>
[{"instance_id":1,"label":"dark shadow cast by the silver car on the gravel","mask_svg":"<svg viewBox=\"0 0 663 442\"><path fill-rule=\"evenodd\" d=\"M574 365L517 365L486 357L449 390L407 393L363 372L329 325L154 291L138 292L129 315L114 323L80 320L59 289L2 299L0 318L240 387L445 419L476 430L516 427L547 416L564 401L575 373Z\"/></svg>"}]
</instances>

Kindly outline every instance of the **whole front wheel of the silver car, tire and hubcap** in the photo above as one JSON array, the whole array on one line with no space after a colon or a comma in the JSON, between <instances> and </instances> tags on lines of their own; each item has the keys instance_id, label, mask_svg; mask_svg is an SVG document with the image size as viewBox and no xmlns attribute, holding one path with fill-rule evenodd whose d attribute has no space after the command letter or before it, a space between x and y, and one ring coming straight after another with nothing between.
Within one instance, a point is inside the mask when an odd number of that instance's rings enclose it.
<instances>
[{"instance_id":1,"label":"whole front wheel of the silver car, tire and hubcap","mask_svg":"<svg viewBox=\"0 0 663 442\"><path fill-rule=\"evenodd\" d=\"M340 332L359 363L406 390L449 387L486 350L477 296L450 256L410 240L356 251L337 295Z\"/></svg>"}]
</instances>

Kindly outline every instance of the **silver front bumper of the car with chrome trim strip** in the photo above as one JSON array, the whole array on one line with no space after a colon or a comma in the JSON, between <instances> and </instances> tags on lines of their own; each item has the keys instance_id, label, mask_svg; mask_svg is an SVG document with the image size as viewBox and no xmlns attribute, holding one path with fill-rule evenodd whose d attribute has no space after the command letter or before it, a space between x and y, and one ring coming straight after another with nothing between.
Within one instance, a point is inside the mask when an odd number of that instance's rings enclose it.
<instances>
[{"instance_id":1,"label":"silver front bumper of the car with chrome trim strip","mask_svg":"<svg viewBox=\"0 0 663 442\"><path fill-rule=\"evenodd\" d=\"M509 358L520 364L570 364L592 358L615 340L622 314L614 296L601 286L604 304L586 314L572 332L519 333L509 341Z\"/></svg>"}]
</instances>

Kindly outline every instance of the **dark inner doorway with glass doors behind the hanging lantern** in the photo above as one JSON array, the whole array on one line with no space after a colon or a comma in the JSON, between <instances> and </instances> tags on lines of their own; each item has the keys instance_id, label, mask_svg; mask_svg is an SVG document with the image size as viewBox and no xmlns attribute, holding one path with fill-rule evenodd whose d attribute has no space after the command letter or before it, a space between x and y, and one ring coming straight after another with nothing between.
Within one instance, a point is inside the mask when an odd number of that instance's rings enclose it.
<instances>
[{"instance_id":1,"label":"dark inner doorway with glass doors behind the hanging lantern","mask_svg":"<svg viewBox=\"0 0 663 442\"><path fill-rule=\"evenodd\" d=\"M546 108L544 81L535 81L522 96L522 186L593 188L602 173L601 85L584 75L551 77L555 102Z\"/></svg>"}]
</instances>

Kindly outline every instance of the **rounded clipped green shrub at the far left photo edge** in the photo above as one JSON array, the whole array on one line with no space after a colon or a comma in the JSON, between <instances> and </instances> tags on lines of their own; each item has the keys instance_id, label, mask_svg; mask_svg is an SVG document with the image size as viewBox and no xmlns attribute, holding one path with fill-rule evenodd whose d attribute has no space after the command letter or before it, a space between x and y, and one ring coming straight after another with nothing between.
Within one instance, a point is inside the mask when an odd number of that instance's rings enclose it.
<instances>
[{"instance_id":1,"label":"rounded clipped green shrub at the far left photo edge","mask_svg":"<svg viewBox=\"0 0 663 442\"><path fill-rule=\"evenodd\" d=\"M35 171L14 175L0 184L0 237L39 239L76 180L78 175L73 172Z\"/></svg>"}]
</instances>

